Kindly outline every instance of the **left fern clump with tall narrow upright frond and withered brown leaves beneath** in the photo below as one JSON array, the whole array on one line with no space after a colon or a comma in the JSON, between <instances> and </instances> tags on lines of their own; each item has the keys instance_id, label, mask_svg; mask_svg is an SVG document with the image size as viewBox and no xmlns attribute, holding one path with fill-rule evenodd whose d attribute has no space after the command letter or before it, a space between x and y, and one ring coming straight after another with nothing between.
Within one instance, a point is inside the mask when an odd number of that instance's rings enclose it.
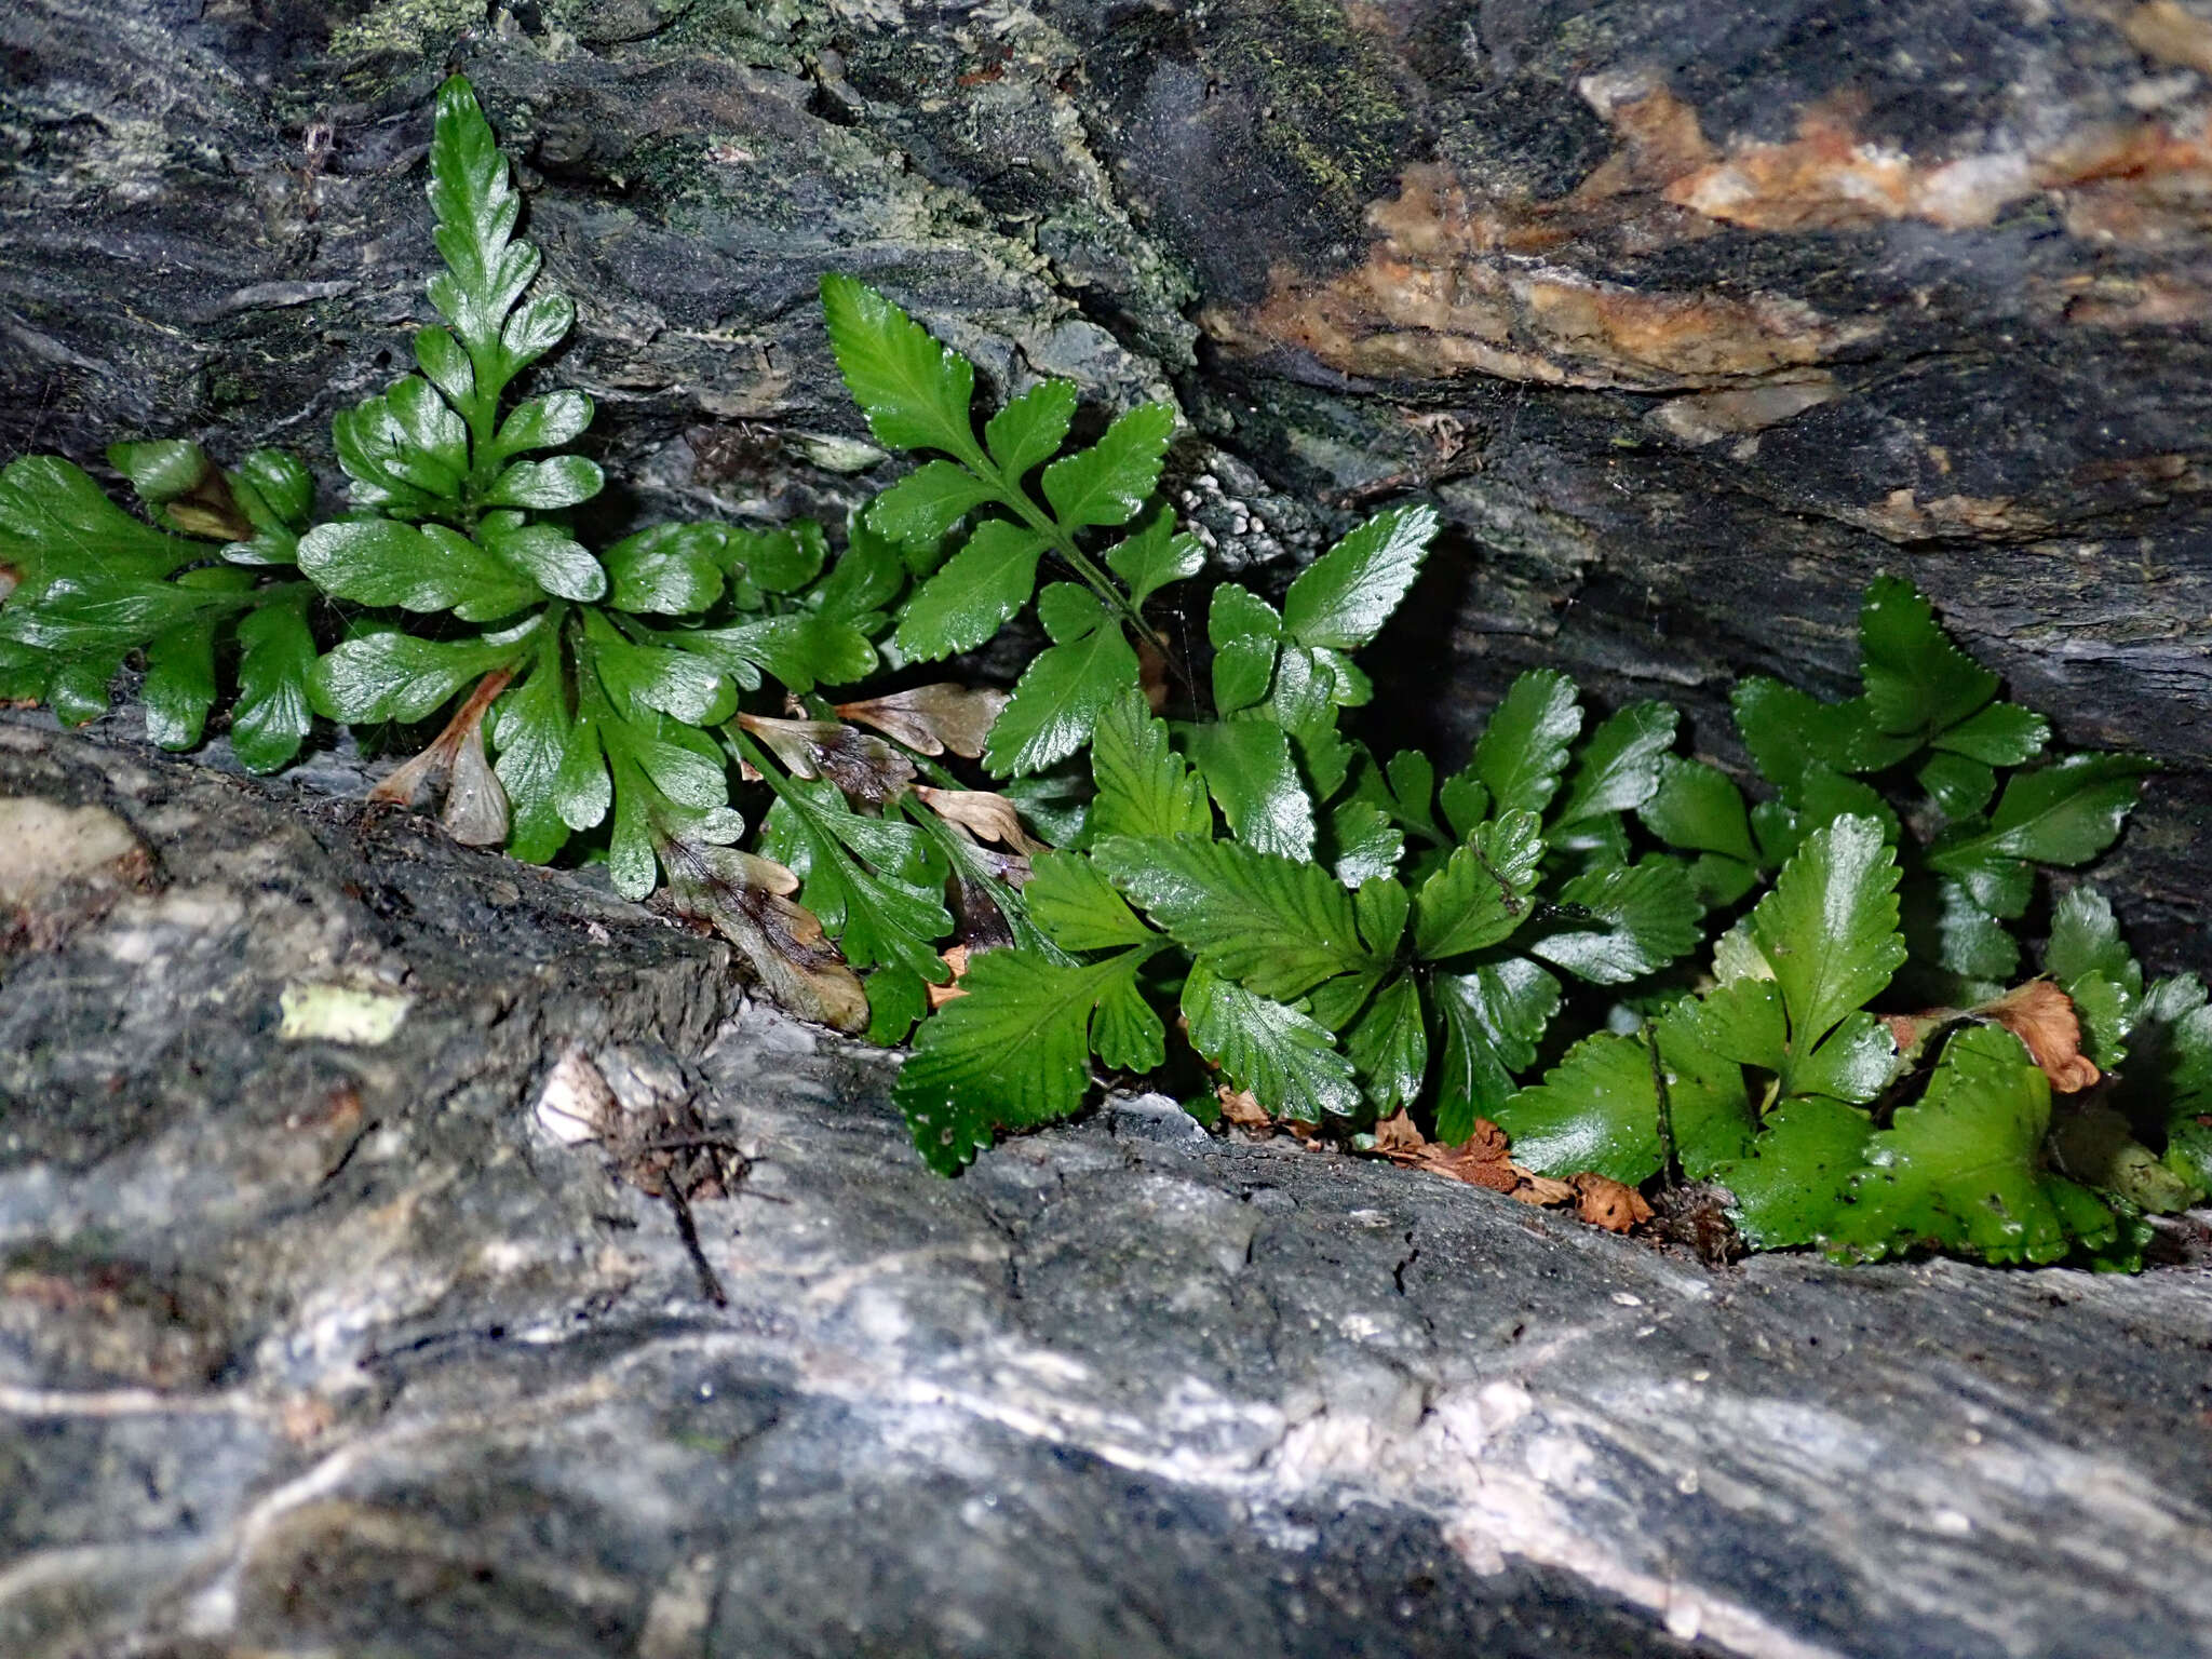
<instances>
[{"instance_id":1,"label":"left fern clump with tall narrow upright frond and withered brown leaves beneath","mask_svg":"<svg viewBox=\"0 0 2212 1659\"><path fill-rule=\"evenodd\" d=\"M832 562L814 524L655 524L586 546L573 509L604 473L566 447L591 398L529 383L575 307L542 281L460 77L438 91L429 175L442 323L416 334L414 374L332 425L349 513L310 526L310 476L268 451L219 471L192 445L119 445L111 462L153 524L69 462L15 462L0 480L0 690L88 719L137 655L150 734L188 748L228 670L230 741L257 770L285 763L312 714L389 730L447 712L380 796L442 779L462 841L533 863L575 847L633 898L666 887L785 1002L843 1029L869 1024L856 969L896 964L916 995L951 978L947 878L958 865L975 907L1018 911L1020 860L993 869L918 805L894 745L818 697L878 668L909 580L900 549L854 526ZM761 721L787 726L790 699L814 699L818 748L757 741ZM973 703L936 688L900 734L931 745L945 726L980 745ZM759 845L790 865L739 849L732 757L739 787L754 779L774 803Z\"/></svg>"}]
</instances>

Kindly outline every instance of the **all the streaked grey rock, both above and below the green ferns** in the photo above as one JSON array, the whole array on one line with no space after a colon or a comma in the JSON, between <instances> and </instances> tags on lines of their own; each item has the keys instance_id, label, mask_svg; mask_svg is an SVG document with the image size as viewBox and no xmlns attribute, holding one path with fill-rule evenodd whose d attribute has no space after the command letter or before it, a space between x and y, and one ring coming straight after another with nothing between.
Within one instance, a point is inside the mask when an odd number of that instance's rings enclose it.
<instances>
[{"instance_id":1,"label":"all the streaked grey rock, both above and below the green ferns","mask_svg":"<svg viewBox=\"0 0 2212 1659\"><path fill-rule=\"evenodd\" d=\"M18 0L0 453L332 482L456 64L599 529L891 473L854 270L1172 396L1221 568L1438 500L1444 741L1555 661L1736 759L1911 571L2172 763L2110 885L2212 967L2194 2ZM889 1060L586 883L33 726L0 796L9 1659L2212 1652L2201 1272L1714 1274L1144 1104L945 1183Z\"/></svg>"}]
</instances>

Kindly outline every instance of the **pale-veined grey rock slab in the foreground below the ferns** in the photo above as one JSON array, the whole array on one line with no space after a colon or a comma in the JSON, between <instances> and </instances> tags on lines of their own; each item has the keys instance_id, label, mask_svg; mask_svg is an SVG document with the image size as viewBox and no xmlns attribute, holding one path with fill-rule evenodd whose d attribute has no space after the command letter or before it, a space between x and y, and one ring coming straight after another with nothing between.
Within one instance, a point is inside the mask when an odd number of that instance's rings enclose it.
<instances>
[{"instance_id":1,"label":"pale-veined grey rock slab in the foreground below the ferns","mask_svg":"<svg viewBox=\"0 0 2212 1659\"><path fill-rule=\"evenodd\" d=\"M1708 1270L1157 1097L942 1181L586 880L0 726L24 803L11 1659L2212 1652L2201 1270Z\"/></svg>"}]
</instances>

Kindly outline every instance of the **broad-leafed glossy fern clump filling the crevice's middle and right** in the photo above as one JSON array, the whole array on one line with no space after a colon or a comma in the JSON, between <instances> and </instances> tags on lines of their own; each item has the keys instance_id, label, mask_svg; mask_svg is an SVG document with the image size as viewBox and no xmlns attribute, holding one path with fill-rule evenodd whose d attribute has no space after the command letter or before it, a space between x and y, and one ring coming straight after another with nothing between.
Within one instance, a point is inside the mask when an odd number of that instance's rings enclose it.
<instances>
[{"instance_id":1,"label":"broad-leafed glossy fern clump filling the crevice's middle and right","mask_svg":"<svg viewBox=\"0 0 2212 1659\"><path fill-rule=\"evenodd\" d=\"M1411 1113L1413 1139L1447 1146L1500 1126L1535 1177L1710 1181L1754 1248L2126 1265L2146 1210L2205 1194L2201 987L2157 989L2177 1015L2161 1037L2190 1031L2168 1053L2190 1060L2119 1108L2130 1095L2104 1071L2146 998L2104 900L2073 889L2046 975L2020 973L2039 872L2101 854L2150 763L2048 757L2044 719L1997 697L1909 582L1867 593L1863 695L1736 688L1756 801L1677 752L1672 708L1590 723L1553 670L1522 675L1442 779L1427 754L1383 759L1345 730L1369 699L1354 657L1436 533L1425 507L1358 526L1281 606L1214 586L1210 708L1164 719L1166 699L1137 690L1157 588L1115 577L1159 568L1164 586L1197 566L1168 557L1166 509L1139 502L1157 447L1117 442L1144 411L1102 445L1130 487L1115 522L1144 529L1091 557L1073 540L1086 524L1048 538L975 442L971 369L931 356L880 296L827 292L876 436L945 456L869 522L962 538L898 637L980 641L1055 549L1082 584L1040 597L1055 644L1009 717L1024 697L1037 712L1020 741L1000 741L1002 717L987 754L1020 776L1088 737L1079 816L1026 889L1040 938L975 958L898 1079L936 1168L1075 1113L1102 1073L1166 1068L1354 1144ZM1177 1073L1177 1048L1199 1064ZM1203 1093L1192 1110L1210 1115Z\"/></svg>"}]
</instances>

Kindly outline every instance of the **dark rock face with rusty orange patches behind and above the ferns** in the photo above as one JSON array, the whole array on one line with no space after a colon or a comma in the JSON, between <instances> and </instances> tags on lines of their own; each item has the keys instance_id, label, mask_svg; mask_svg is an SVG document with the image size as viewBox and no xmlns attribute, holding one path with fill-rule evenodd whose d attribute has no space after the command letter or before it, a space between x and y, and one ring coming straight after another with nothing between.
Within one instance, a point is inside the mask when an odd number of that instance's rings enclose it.
<instances>
[{"instance_id":1,"label":"dark rock face with rusty orange patches behind and above the ferns","mask_svg":"<svg viewBox=\"0 0 2212 1659\"><path fill-rule=\"evenodd\" d=\"M1909 568L2174 763L2112 885L2212 967L2199 0L20 0L0 53L0 451L327 460L427 314L462 64L646 504L880 478L836 265L1002 385L1177 396L1225 566L1433 493L1394 690L1447 739L1555 661L1734 759L1734 675L1834 690Z\"/></svg>"}]
</instances>

